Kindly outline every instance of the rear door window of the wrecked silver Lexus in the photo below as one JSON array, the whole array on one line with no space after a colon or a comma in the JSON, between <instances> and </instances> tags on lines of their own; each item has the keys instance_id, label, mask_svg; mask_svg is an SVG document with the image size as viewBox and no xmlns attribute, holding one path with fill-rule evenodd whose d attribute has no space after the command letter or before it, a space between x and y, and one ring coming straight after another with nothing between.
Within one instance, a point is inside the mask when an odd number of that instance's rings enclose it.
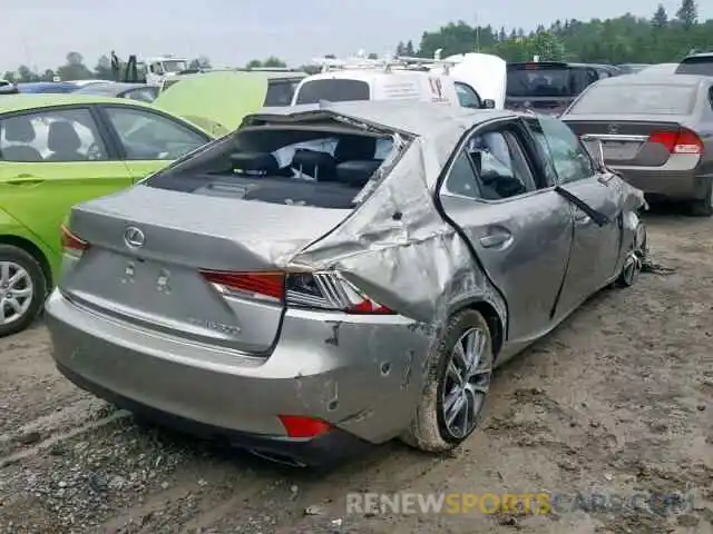
<instances>
[{"instance_id":1,"label":"rear door window of the wrecked silver Lexus","mask_svg":"<svg viewBox=\"0 0 713 534\"><path fill-rule=\"evenodd\" d=\"M507 130L471 137L453 161L446 181L449 192L484 200L502 200L536 189L517 137Z\"/></svg>"}]
</instances>

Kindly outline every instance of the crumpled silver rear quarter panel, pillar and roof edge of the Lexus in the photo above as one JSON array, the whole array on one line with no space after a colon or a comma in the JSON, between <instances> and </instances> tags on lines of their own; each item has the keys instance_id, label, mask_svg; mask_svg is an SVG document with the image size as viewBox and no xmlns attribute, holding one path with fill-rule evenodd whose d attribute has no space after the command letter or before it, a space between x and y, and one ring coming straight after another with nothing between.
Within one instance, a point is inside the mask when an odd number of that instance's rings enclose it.
<instances>
[{"instance_id":1,"label":"crumpled silver rear quarter panel, pillar and roof edge of the Lexus","mask_svg":"<svg viewBox=\"0 0 713 534\"><path fill-rule=\"evenodd\" d=\"M344 116L364 127L410 135L412 142L403 154L393 154L395 164L384 162L383 181L350 217L296 251L283 267L336 269L375 300L428 325L441 325L451 304L463 298L489 301L505 322L505 303L485 274L473 269L470 249L433 201L437 181L472 127L473 113L446 106L417 111L413 102L344 102L338 106L339 113L332 108L323 103L276 109L280 115L252 116L244 126L281 120L280 116L285 121ZM507 112L478 115L482 122Z\"/></svg>"}]
</instances>

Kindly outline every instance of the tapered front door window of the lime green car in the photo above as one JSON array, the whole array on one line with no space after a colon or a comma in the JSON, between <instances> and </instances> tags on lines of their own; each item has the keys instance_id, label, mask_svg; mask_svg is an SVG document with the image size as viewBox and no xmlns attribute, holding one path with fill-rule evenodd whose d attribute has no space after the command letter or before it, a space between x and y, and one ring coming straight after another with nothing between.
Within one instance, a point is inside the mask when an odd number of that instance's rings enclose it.
<instances>
[{"instance_id":1,"label":"tapered front door window of the lime green car","mask_svg":"<svg viewBox=\"0 0 713 534\"><path fill-rule=\"evenodd\" d=\"M105 108L129 160L172 160L208 142L178 121L137 108Z\"/></svg>"}]
</instances>

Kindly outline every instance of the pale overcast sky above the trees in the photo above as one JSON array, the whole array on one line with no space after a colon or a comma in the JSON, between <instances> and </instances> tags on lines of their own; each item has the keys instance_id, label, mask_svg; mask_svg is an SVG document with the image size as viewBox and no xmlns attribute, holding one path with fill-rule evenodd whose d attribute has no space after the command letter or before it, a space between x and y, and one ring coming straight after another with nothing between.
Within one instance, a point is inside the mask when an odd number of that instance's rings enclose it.
<instances>
[{"instance_id":1,"label":"pale overcast sky above the trees","mask_svg":"<svg viewBox=\"0 0 713 534\"><path fill-rule=\"evenodd\" d=\"M462 19L470 24L533 29L556 19L609 18L631 11L649 17L656 0L6 0L2 2L0 72L27 63L64 63L79 51L89 67L115 49L154 56L205 55L214 66L242 66L277 56L303 63L324 53L359 49L384 53L399 40L418 44L423 30ZM485 7L478 8L479 3ZM665 0L673 17L680 1ZM702 18L713 1L699 2ZM497 6L497 7L496 7Z\"/></svg>"}]
</instances>

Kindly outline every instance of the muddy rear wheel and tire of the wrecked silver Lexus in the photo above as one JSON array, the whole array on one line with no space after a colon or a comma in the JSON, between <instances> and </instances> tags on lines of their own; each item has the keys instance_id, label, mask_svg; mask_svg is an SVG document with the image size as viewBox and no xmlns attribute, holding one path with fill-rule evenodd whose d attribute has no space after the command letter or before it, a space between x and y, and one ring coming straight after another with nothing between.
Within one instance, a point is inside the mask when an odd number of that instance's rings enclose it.
<instances>
[{"instance_id":1,"label":"muddy rear wheel and tire of the wrecked silver Lexus","mask_svg":"<svg viewBox=\"0 0 713 534\"><path fill-rule=\"evenodd\" d=\"M467 309L452 316L429 363L427 383L402 439L421 451L456 448L480 422L494 366L485 317Z\"/></svg>"}]
</instances>

